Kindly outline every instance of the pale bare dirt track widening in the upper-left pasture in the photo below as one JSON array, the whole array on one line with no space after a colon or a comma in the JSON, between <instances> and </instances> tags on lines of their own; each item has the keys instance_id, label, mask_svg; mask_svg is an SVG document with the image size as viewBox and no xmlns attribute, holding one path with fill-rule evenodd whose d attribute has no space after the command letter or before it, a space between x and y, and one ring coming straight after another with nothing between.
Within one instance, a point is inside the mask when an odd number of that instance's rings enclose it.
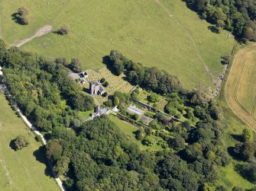
<instances>
[{"instance_id":1,"label":"pale bare dirt track widening in the upper-left pasture","mask_svg":"<svg viewBox=\"0 0 256 191\"><path fill-rule=\"evenodd\" d=\"M50 31L53 29L51 25L45 25L44 27L41 27L40 29L37 30L36 33L32 37L29 37L24 40L19 40L18 42L12 43L11 46L17 46L20 47L24 45L25 43L28 43L29 41L33 40L36 37L42 37L47 33L50 33Z\"/></svg>"}]
</instances>

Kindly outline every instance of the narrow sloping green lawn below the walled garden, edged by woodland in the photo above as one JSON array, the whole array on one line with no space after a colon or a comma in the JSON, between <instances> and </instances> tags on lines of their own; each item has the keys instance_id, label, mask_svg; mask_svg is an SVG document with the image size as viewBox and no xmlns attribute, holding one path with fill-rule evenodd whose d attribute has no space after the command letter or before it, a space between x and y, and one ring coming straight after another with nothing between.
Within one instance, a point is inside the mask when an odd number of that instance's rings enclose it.
<instances>
[{"instance_id":1,"label":"narrow sloping green lawn below the walled garden, edged by woodland","mask_svg":"<svg viewBox=\"0 0 256 191\"><path fill-rule=\"evenodd\" d=\"M154 144L150 147L147 147L146 145L142 145L141 141L138 141L135 138L134 132L138 130L137 126L133 126L130 123L127 123L125 121L122 121L120 119L118 119L118 117L113 116L113 115L109 115L109 118L112 120L112 122L115 123L116 126L118 126L118 128L125 133L125 135L128 135L128 138L130 138L131 142L136 142L138 144L138 146L142 149L142 150L151 150L151 151L160 151L163 148L161 148L160 145L157 145L157 141L159 141L161 138L156 137L154 135L150 135L148 138L151 140L151 142L153 142Z\"/></svg>"}]
</instances>

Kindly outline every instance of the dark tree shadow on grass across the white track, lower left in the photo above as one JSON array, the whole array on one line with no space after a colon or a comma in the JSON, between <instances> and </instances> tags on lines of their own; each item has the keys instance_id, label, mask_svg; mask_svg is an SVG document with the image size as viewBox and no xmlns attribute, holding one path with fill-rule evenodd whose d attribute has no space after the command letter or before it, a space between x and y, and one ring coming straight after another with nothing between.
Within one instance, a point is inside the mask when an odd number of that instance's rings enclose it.
<instances>
[{"instance_id":1,"label":"dark tree shadow on grass across the white track, lower left","mask_svg":"<svg viewBox=\"0 0 256 191\"><path fill-rule=\"evenodd\" d=\"M37 149L37 151L34 151L33 155L37 161L41 162L42 164L45 164L46 168L44 170L44 174L48 177L54 177L50 169L50 165L47 161L45 152L46 152L45 146L41 146L40 148Z\"/></svg>"}]
</instances>

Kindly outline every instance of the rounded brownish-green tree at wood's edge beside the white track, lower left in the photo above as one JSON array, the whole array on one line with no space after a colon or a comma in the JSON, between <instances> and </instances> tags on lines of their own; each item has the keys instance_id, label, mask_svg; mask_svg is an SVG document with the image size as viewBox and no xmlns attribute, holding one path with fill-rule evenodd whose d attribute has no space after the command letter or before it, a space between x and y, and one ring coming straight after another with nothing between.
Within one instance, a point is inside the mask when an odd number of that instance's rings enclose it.
<instances>
[{"instance_id":1,"label":"rounded brownish-green tree at wood's edge beside the white track, lower left","mask_svg":"<svg viewBox=\"0 0 256 191\"><path fill-rule=\"evenodd\" d=\"M60 159L63 148L57 140L50 140L46 145L46 155L51 161Z\"/></svg>"}]
</instances>

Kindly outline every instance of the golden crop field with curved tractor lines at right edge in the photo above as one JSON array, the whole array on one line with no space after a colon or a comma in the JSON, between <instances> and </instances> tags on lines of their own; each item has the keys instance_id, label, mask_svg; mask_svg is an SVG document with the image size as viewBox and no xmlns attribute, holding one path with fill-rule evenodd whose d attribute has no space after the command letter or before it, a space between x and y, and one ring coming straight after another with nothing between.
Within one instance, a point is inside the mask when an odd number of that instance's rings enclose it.
<instances>
[{"instance_id":1,"label":"golden crop field with curved tractor lines at right edge","mask_svg":"<svg viewBox=\"0 0 256 191\"><path fill-rule=\"evenodd\" d=\"M225 97L232 110L256 130L256 45L238 51L225 85Z\"/></svg>"}]
</instances>

